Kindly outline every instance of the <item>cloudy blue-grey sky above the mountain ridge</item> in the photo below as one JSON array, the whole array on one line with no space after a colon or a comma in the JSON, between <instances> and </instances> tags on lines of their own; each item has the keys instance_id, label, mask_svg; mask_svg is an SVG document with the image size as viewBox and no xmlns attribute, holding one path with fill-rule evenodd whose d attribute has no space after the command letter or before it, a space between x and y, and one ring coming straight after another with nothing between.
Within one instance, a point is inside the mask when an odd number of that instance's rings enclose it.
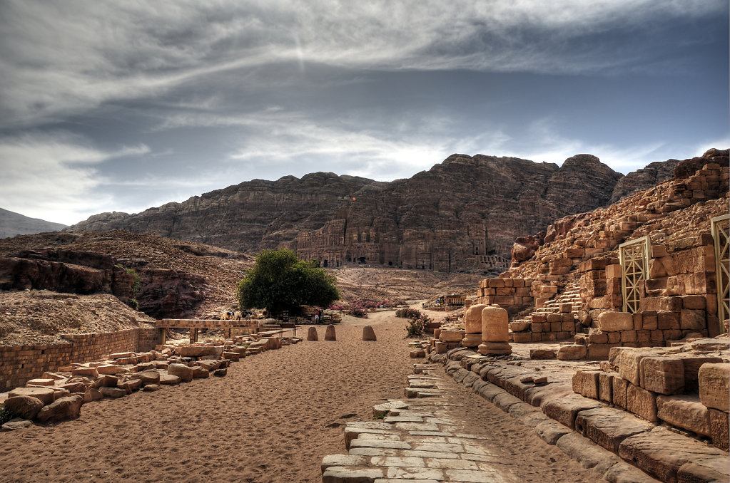
<instances>
[{"instance_id":1,"label":"cloudy blue-grey sky above the mountain ridge","mask_svg":"<svg viewBox=\"0 0 730 483\"><path fill-rule=\"evenodd\" d=\"M726 0L0 0L0 208L730 147Z\"/></svg>"}]
</instances>

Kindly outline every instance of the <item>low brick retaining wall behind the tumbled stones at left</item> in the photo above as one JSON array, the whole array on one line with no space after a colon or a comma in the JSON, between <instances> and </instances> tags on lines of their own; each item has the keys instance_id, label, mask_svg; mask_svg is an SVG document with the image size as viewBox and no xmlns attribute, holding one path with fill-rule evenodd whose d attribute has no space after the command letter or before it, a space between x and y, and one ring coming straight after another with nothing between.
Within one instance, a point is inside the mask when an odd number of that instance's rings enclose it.
<instances>
[{"instance_id":1,"label":"low brick retaining wall behind the tumbled stones at left","mask_svg":"<svg viewBox=\"0 0 730 483\"><path fill-rule=\"evenodd\" d=\"M93 361L108 353L144 352L155 348L155 328L125 329L102 334L61 334L69 342L0 347L0 390L22 386L47 371L74 362Z\"/></svg>"}]
</instances>

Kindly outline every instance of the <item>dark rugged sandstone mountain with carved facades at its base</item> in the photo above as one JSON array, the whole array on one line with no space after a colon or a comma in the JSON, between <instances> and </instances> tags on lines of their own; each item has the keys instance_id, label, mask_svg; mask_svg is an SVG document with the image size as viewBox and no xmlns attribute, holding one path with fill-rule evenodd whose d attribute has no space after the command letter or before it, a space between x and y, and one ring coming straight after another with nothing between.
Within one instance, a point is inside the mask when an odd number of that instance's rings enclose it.
<instances>
[{"instance_id":1,"label":"dark rugged sandstone mountain with carved facades at its base","mask_svg":"<svg viewBox=\"0 0 730 483\"><path fill-rule=\"evenodd\" d=\"M633 176L621 192L661 176ZM453 154L407 179L257 179L142 213L101 213L66 231L126 229L245 253L288 246L326 267L485 272L507 267L516 237L610 203L621 178L590 154L560 167Z\"/></svg>"}]
</instances>

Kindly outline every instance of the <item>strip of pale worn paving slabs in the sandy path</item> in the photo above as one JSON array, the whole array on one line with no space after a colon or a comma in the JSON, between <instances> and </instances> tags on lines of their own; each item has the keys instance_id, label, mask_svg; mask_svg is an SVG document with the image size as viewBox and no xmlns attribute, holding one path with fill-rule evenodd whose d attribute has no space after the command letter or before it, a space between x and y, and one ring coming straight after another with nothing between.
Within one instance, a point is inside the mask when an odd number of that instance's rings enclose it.
<instances>
[{"instance_id":1,"label":"strip of pale worn paving slabs in the sandy path","mask_svg":"<svg viewBox=\"0 0 730 483\"><path fill-rule=\"evenodd\" d=\"M439 388L442 378L434 369L410 376L405 391L408 395L426 390L428 399L416 394L407 401L378 404L374 415L382 421L345 425L348 454L323 458L323 482L507 483L499 473L504 462L485 446L489 439L457 431ZM423 389L426 385L431 388Z\"/></svg>"}]
</instances>

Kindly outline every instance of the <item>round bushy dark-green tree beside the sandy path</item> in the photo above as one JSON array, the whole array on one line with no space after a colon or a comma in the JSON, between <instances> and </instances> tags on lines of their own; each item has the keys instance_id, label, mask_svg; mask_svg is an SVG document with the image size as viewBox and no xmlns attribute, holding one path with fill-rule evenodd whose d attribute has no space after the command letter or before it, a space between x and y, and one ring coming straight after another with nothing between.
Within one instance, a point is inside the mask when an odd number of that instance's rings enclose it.
<instances>
[{"instance_id":1,"label":"round bushy dark-green tree beside the sandy path","mask_svg":"<svg viewBox=\"0 0 730 483\"><path fill-rule=\"evenodd\" d=\"M300 305L327 307L339 299L336 280L317 262L303 262L284 248L264 250L238 283L236 298L243 309L265 307L269 313Z\"/></svg>"}]
</instances>

